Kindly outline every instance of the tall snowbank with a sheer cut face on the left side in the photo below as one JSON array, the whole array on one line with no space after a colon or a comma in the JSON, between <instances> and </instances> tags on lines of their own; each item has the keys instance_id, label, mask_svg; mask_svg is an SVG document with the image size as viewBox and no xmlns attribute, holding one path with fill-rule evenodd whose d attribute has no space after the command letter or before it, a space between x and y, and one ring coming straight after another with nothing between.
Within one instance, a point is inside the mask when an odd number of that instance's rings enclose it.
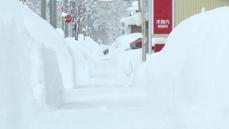
<instances>
[{"instance_id":1,"label":"tall snowbank with a sheer cut face on the left side","mask_svg":"<svg viewBox=\"0 0 229 129\"><path fill-rule=\"evenodd\" d=\"M64 38L18 1L0 11L0 128L31 129L40 106L59 106L61 90L73 87L70 54Z\"/></svg>"}]
</instances>

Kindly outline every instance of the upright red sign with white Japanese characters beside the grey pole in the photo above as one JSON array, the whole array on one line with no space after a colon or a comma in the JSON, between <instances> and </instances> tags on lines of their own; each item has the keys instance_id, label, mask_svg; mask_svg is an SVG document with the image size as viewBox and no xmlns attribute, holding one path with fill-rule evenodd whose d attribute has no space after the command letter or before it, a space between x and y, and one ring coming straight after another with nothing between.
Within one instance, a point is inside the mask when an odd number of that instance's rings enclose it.
<instances>
[{"instance_id":1,"label":"upright red sign with white Japanese characters beside the grey pole","mask_svg":"<svg viewBox=\"0 0 229 129\"><path fill-rule=\"evenodd\" d=\"M154 34L169 34L173 28L173 0L154 1Z\"/></svg>"}]
</instances>

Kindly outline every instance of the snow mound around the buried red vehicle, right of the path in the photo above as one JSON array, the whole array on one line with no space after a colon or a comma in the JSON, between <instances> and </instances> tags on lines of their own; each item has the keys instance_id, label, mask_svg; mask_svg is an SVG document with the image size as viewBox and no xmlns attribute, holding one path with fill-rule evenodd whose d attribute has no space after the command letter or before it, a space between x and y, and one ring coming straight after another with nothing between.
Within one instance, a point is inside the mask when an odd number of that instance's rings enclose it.
<instances>
[{"instance_id":1,"label":"snow mound around the buried red vehicle, right of the path","mask_svg":"<svg viewBox=\"0 0 229 129\"><path fill-rule=\"evenodd\" d=\"M129 78L130 85L132 85L136 70L141 65L141 49L130 49L130 43L141 37L141 33L120 36L109 49L113 64Z\"/></svg>"}]
</instances>

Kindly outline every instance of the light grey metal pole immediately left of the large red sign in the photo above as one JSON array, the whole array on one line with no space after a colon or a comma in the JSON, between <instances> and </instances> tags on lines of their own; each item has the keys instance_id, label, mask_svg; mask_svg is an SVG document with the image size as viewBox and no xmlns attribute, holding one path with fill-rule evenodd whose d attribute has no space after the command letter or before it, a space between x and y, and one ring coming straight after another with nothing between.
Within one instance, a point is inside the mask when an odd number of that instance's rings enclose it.
<instances>
[{"instance_id":1,"label":"light grey metal pole immediately left of the large red sign","mask_svg":"<svg viewBox=\"0 0 229 129\"><path fill-rule=\"evenodd\" d=\"M153 35L153 4L154 0L149 0L149 21L148 21L148 54L152 54L152 35Z\"/></svg>"}]
</instances>

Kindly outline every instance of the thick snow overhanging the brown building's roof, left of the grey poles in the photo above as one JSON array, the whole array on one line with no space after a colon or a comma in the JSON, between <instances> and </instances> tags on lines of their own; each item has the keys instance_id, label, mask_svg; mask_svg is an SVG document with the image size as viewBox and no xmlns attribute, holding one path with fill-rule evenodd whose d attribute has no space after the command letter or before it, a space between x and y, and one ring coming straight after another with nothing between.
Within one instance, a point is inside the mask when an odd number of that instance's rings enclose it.
<instances>
[{"instance_id":1,"label":"thick snow overhanging the brown building's roof, left of the grey poles","mask_svg":"<svg viewBox=\"0 0 229 129\"><path fill-rule=\"evenodd\" d=\"M132 16L129 17L123 17L120 22L122 24L124 24L125 26L129 26L129 25L136 25L136 26L140 26L142 24L141 21L141 13L135 13Z\"/></svg>"}]
</instances>

